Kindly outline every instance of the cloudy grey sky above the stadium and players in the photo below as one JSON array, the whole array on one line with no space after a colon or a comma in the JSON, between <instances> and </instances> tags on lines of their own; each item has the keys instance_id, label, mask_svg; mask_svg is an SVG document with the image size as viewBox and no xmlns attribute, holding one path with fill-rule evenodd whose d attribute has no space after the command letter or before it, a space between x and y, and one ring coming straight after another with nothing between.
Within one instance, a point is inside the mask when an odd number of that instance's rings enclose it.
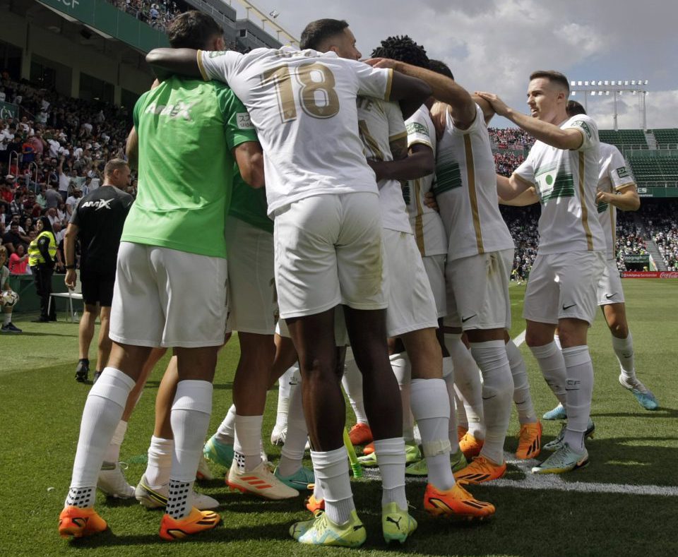
<instances>
[{"instance_id":1,"label":"cloudy grey sky above the stadium and players","mask_svg":"<svg viewBox=\"0 0 678 557\"><path fill-rule=\"evenodd\" d=\"M446 61L468 90L496 92L527 112L535 69L570 80L648 80L648 127L678 127L676 0L253 0L301 35L319 18L345 19L369 55L389 35L410 35L429 57ZM237 1L232 6L244 17ZM573 97L582 102L581 94ZM600 128L612 128L612 95L587 97ZM641 126L638 97L618 100L619 128ZM510 125L500 119L495 126Z\"/></svg>"}]
</instances>

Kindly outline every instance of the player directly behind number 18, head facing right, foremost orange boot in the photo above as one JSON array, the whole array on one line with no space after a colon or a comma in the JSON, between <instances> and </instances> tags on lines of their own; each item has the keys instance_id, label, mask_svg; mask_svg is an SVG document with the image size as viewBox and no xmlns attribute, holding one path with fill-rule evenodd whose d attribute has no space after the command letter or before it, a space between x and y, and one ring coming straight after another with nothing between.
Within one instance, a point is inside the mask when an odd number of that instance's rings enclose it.
<instances>
[{"instance_id":1,"label":"player directly behind number 18, head facing right, foremost orange boot","mask_svg":"<svg viewBox=\"0 0 678 557\"><path fill-rule=\"evenodd\" d=\"M334 48L339 56L358 59L360 53L355 46L346 48L340 35L333 31L332 22L335 20L322 21L328 23L311 23L316 25L316 32L312 41L302 41L302 47L314 47L321 52ZM350 30L347 28L345 32L350 33ZM430 85L434 87L435 84ZM444 87L440 89L447 92ZM412 107L411 111L416 108ZM412 414L419 424L424 456L429 467L424 508L433 515L492 515L494 507L475 501L470 493L456 484L452 474L447 438L450 405L442 379L441 350L436 340L437 311L424 263L412 234L399 181L432 172L433 164L422 167L416 157L406 156L407 132L398 104L361 97L358 100L358 119L365 155L379 179L386 271L384 289L388 297L386 330L389 337L398 337L403 342L411 361L411 378L409 373L402 373L404 366L394 365L393 371L398 383L410 388L409 396L403 398L407 403L403 412L409 411L411 405ZM405 354L398 356L403 359ZM383 474L386 459L396 457L395 449L393 443L387 444L387 441L376 439L374 453L367 458L376 457L376 464L381 467ZM401 459L404 457L402 453L399 456ZM383 499L382 505L383 517L392 514L386 510L389 506L393 508L393 503ZM397 505L400 513L407 508L404 500L398 501ZM413 525L416 526L416 522ZM387 525L383 526L386 533Z\"/></svg>"}]
</instances>

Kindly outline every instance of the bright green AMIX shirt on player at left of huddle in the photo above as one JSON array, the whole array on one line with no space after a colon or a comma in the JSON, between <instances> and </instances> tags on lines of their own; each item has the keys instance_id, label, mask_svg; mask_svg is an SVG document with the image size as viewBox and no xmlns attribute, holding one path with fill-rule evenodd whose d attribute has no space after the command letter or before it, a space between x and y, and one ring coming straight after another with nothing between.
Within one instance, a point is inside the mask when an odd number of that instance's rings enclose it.
<instances>
[{"instance_id":1,"label":"bright green AMIX shirt on player at left of huddle","mask_svg":"<svg viewBox=\"0 0 678 557\"><path fill-rule=\"evenodd\" d=\"M226 257L232 149L256 141L249 114L223 83L176 76L134 107L139 180L121 241Z\"/></svg>"}]
</instances>

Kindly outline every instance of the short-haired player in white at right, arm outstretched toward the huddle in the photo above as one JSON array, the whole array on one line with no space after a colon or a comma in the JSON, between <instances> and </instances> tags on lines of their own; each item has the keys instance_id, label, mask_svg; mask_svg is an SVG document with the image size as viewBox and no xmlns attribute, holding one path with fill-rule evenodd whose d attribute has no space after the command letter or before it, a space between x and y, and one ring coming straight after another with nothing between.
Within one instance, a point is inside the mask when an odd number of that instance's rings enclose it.
<instances>
[{"instance_id":1,"label":"short-haired player in white at right, arm outstretched toward the huddle","mask_svg":"<svg viewBox=\"0 0 678 557\"><path fill-rule=\"evenodd\" d=\"M478 94L492 103L497 114L537 139L510 178L497 176L497 189L501 198L511 200L534 187L542 203L539 249L523 308L525 342L565 406L568 422L557 451L532 470L569 472L588 464L584 438L593 429L593 364L586 338L595 318L596 286L605 268L605 234L595 212L600 167L597 126L583 114L568 117L569 82L556 71L530 76L531 117L492 93ZM562 353L553 338L556 327Z\"/></svg>"}]
</instances>

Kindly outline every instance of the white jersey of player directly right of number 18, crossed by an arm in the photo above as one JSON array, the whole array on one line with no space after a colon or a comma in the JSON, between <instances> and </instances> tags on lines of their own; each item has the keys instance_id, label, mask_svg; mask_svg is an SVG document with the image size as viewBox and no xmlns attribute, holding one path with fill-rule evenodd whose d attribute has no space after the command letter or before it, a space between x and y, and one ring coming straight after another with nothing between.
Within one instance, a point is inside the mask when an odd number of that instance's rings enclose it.
<instances>
[{"instance_id":1,"label":"white jersey of player directly right of number 18, crossed by an arm","mask_svg":"<svg viewBox=\"0 0 678 557\"><path fill-rule=\"evenodd\" d=\"M407 136L400 106L371 97L358 98L358 129L365 157L371 160L393 160L391 143ZM397 232L412 232L400 181L380 180L378 186L383 227Z\"/></svg>"}]
</instances>

